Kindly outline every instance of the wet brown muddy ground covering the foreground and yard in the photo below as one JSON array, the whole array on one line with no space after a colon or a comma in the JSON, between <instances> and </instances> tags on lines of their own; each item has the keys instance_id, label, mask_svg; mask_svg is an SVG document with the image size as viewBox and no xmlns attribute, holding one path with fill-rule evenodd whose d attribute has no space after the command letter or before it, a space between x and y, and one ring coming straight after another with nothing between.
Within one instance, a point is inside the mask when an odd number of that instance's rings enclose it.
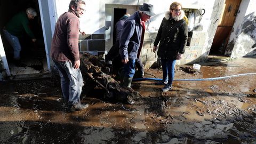
<instances>
[{"instance_id":1,"label":"wet brown muddy ground covering the foreground and yard","mask_svg":"<svg viewBox=\"0 0 256 144\"><path fill-rule=\"evenodd\" d=\"M175 79L256 73L256 58L210 59L194 74L177 67ZM145 77L161 78L160 69ZM217 81L133 82L134 105L82 94L86 110L66 112L51 79L1 82L0 143L256 143L256 75Z\"/></svg>"}]
</instances>

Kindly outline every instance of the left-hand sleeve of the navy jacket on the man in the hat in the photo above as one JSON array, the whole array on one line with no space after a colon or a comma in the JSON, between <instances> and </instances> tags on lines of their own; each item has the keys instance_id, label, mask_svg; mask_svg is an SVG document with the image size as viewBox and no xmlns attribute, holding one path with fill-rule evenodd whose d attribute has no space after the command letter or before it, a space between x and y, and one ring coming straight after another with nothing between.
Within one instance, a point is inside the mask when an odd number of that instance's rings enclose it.
<instances>
[{"instance_id":1,"label":"left-hand sleeve of the navy jacket on the man in the hat","mask_svg":"<svg viewBox=\"0 0 256 144\"><path fill-rule=\"evenodd\" d=\"M119 41L119 47L120 47L119 54L122 59L129 58L128 45L134 31L135 31L135 21L133 20L125 21L123 30L120 36L120 41Z\"/></svg>"}]
</instances>

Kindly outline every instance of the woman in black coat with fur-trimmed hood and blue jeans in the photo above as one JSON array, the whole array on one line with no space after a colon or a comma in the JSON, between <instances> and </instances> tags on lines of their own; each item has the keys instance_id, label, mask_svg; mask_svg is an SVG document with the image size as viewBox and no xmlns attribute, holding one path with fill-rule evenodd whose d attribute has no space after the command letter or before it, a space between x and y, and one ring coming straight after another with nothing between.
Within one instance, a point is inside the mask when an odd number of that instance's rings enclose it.
<instances>
[{"instance_id":1,"label":"woman in black coat with fur-trimmed hood and blue jeans","mask_svg":"<svg viewBox=\"0 0 256 144\"><path fill-rule=\"evenodd\" d=\"M163 68L163 92L172 89L172 81L174 79L174 67L175 62L181 59L188 39L188 26L182 6L178 2L173 2L170 5L170 11L166 12L165 17L159 27L153 52L156 52L157 45L159 43L159 49L157 51L158 57L161 58ZM159 83L158 83L159 85Z\"/></svg>"}]
</instances>

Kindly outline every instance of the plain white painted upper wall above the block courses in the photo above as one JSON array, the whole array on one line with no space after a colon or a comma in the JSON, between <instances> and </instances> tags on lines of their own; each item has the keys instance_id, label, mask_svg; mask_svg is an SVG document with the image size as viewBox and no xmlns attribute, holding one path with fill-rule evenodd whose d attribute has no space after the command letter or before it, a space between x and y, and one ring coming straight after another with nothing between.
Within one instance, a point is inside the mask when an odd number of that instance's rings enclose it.
<instances>
[{"instance_id":1,"label":"plain white painted upper wall above the block courses","mask_svg":"<svg viewBox=\"0 0 256 144\"><path fill-rule=\"evenodd\" d=\"M69 0L55 0L57 7L57 17L59 17L63 12L68 11ZM167 0L149 0L149 1L115 1L115 0L85 0L86 12L83 17L80 18L81 29L85 31L86 34L98 34L105 33L105 7L106 4L121 4L121 5L142 5L143 2L150 3L154 5L154 11L156 13L155 17L151 18L149 30L156 31L164 17L166 11L169 11L170 4L174 1ZM210 25L210 17L213 9L214 1L204 1L204 0L180 0L179 1L184 8L190 9L205 9L206 12L202 17L201 22L203 23L204 30ZM198 21L196 21L198 22Z\"/></svg>"}]
</instances>

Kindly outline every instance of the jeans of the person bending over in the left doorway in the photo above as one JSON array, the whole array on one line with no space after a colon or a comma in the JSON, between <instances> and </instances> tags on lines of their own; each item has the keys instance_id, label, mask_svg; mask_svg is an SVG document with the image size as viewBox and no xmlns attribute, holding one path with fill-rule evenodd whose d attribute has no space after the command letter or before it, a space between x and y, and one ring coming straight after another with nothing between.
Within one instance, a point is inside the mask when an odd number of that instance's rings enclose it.
<instances>
[{"instance_id":1,"label":"jeans of the person bending over in the left doorway","mask_svg":"<svg viewBox=\"0 0 256 144\"><path fill-rule=\"evenodd\" d=\"M10 34L7 30L3 29L3 33L7 41L11 44L13 48L13 59L19 60L20 59L20 51L21 46L19 42L19 38L17 36L14 36Z\"/></svg>"}]
</instances>

